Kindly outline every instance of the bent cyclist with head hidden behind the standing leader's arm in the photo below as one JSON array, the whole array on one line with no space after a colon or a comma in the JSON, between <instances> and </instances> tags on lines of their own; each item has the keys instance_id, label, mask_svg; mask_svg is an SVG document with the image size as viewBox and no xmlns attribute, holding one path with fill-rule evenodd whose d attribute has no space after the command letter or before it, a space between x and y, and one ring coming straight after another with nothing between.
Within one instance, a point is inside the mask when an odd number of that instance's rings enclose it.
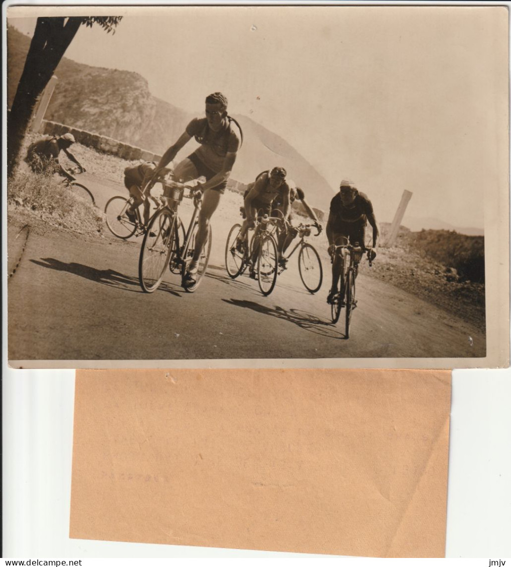
<instances>
[{"instance_id":1,"label":"bent cyclist with head hidden behind the standing leader's arm","mask_svg":"<svg viewBox=\"0 0 511 567\"><path fill-rule=\"evenodd\" d=\"M126 216L131 222L136 221L135 211L143 202L143 223L149 224L151 203L149 197L156 205L158 202L151 196L151 189L154 184L161 181L171 170L162 168L155 176L156 164L154 162L142 162L137 166L129 166L124 170L124 187L128 189L130 196L133 197L133 204L126 209Z\"/></svg>"}]
</instances>

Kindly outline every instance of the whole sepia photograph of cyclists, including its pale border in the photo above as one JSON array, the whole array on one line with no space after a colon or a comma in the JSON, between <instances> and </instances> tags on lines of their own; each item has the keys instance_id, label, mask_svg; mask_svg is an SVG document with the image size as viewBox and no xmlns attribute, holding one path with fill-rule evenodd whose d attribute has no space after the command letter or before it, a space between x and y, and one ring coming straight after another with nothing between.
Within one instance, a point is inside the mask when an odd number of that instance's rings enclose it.
<instances>
[{"instance_id":1,"label":"whole sepia photograph of cyclists, including its pale border","mask_svg":"<svg viewBox=\"0 0 511 567\"><path fill-rule=\"evenodd\" d=\"M4 24L13 367L508 364L504 7Z\"/></svg>"}]
</instances>

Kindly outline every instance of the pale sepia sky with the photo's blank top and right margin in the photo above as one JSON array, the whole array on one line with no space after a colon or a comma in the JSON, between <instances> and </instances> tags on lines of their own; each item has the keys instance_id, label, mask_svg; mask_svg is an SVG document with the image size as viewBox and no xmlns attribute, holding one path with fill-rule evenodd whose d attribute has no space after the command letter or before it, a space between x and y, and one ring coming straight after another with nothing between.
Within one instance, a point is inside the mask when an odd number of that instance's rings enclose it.
<instances>
[{"instance_id":1,"label":"pale sepia sky with the photo's blank top and right margin","mask_svg":"<svg viewBox=\"0 0 511 567\"><path fill-rule=\"evenodd\" d=\"M31 34L44 9L9 10ZM66 57L136 71L154 96L198 114L206 94L224 92L231 113L286 139L332 194L352 179L379 220L392 219L407 189L407 216L482 228L484 198L507 191L502 7L109 11L124 16L115 35L82 26Z\"/></svg>"}]
</instances>

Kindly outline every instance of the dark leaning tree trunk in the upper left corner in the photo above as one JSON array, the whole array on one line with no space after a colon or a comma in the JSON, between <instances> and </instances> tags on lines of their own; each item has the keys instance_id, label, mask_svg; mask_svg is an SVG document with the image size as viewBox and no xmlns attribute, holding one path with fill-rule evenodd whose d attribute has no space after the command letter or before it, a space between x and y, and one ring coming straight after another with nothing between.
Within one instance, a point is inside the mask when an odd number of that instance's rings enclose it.
<instances>
[{"instance_id":1,"label":"dark leaning tree trunk in the upper left corner","mask_svg":"<svg viewBox=\"0 0 511 567\"><path fill-rule=\"evenodd\" d=\"M23 138L37 98L47 86L82 22L83 18L37 18L18 90L7 118L8 176L18 166Z\"/></svg>"}]
</instances>

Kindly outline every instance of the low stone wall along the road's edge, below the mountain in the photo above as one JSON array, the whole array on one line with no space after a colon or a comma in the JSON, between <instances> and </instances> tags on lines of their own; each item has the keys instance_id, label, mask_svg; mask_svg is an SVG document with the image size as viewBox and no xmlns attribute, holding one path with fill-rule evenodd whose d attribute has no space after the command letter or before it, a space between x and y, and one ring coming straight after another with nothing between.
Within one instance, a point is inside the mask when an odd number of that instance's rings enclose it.
<instances>
[{"instance_id":1,"label":"low stone wall along the road's edge, below the mountain","mask_svg":"<svg viewBox=\"0 0 511 567\"><path fill-rule=\"evenodd\" d=\"M117 157L129 162L142 159L145 162L158 163L162 157L152 151L143 150L136 146L130 146L129 144L120 142L119 140L108 138L108 136L100 136L99 134L87 132L87 130L71 128L71 126L59 124L58 122L51 122L49 120L43 120L41 132L43 134L50 134L51 136L62 136L62 134L69 132L70 134L73 134L75 140L83 146L92 147L105 154L116 155Z\"/></svg>"}]
</instances>

